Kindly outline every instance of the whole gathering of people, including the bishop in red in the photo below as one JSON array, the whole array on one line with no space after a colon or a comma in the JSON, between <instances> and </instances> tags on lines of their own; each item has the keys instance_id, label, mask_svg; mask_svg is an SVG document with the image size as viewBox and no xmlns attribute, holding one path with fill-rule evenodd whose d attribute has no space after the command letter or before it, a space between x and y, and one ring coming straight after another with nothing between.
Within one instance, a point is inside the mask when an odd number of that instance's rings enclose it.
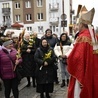
<instances>
[{"instance_id":1,"label":"whole gathering of people, including the bishop in red","mask_svg":"<svg viewBox=\"0 0 98 98\"><path fill-rule=\"evenodd\" d=\"M20 65L27 79L26 87L31 86L32 79L40 98L51 98L54 83L59 83L58 69L60 86L68 87L68 98L98 98L98 35L92 26L94 12L94 8L87 11L85 6L78 11L78 21L73 26L74 43L67 33L58 38L51 29L41 39L36 32L22 32L21 40L14 32L0 35L0 78L5 98L10 98L11 90L14 98L19 98L20 81L14 69ZM0 83L0 90L3 84Z\"/></svg>"}]
</instances>

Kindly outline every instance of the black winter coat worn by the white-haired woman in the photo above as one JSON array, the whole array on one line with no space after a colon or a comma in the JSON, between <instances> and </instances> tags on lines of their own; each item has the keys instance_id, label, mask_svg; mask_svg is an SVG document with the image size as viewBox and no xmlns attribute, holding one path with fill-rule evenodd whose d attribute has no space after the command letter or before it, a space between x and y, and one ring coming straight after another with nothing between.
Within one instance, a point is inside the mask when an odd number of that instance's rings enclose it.
<instances>
[{"instance_id":1,"label":"black winter coat worn by the white-haired woman","mask_svg":"<svg viewBox=\"0 0 98 98\"><path fill-rule=\"evenodd\" d=\"M34 53L35 48L32 46L31 52L27 53L29 42L23 41L23 45L21 47L21 56L22 56L22 66L26 76L34 76L35 74L35 61L34 61Z\"/></svg>"}]
</instances>

